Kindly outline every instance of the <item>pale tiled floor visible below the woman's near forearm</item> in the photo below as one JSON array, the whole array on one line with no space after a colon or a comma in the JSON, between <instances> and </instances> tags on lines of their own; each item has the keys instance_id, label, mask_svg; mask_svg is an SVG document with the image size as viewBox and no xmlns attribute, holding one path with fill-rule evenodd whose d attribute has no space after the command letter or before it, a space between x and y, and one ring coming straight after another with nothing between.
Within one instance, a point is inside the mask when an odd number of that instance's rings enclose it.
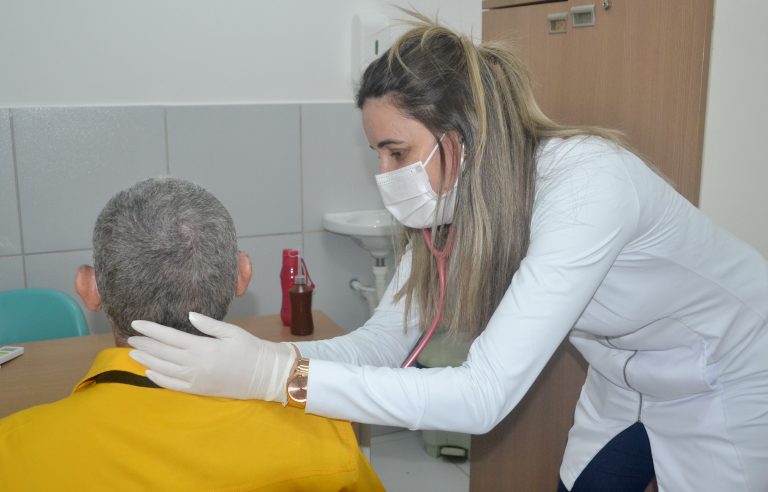
<instances>
[{"instance_id":1,"label":"pale tiled floor visible below the woman's near forearm","mask_svg":"<svg viewBox=\"0 0 768 492\"><path fill-rule=\"evenodd\" d=\"M420 432L392 428L381 432L373 432L371 465L388 492L469 490L469 461L454 463L429 456Z\"/></svg>"}]
</instances>

